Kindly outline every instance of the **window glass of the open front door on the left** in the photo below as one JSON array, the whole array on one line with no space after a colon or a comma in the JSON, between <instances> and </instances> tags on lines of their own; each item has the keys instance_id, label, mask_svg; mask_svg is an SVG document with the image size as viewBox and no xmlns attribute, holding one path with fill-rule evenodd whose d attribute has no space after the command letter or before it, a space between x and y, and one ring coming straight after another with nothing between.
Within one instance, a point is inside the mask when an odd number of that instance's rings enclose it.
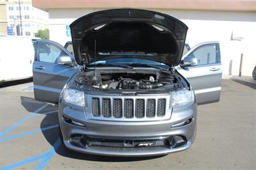
<instances>
[{"instance_id":1,"label":"window glass of the open front door on the left","mask_svg":"<svg viewBox=\"0 0 256 170\"><path fill-rule=\"evenodd\" d=\"M59 47L52 43L40 42L38 45L39 61L55 63L56 59L63 53Z\"/></svg>"}]
</instances>

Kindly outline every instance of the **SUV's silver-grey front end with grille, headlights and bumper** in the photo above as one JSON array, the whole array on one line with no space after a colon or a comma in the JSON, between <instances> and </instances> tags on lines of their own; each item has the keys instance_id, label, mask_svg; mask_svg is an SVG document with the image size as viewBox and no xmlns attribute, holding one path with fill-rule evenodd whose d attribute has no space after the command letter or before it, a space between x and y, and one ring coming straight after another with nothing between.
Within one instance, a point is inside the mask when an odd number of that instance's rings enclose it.
<instances>
[{"instance_id":1,"label":"SUV's silver-grey front end with grille, headlights and bumper","mask_svg":"<svg viewBox=\"0 0 256 170\"><path fill-rule=\"evenodd\" d=\"M186 150L195 140L195 94L192 89L99 94L67 84L59 120L70 150L122 157L166 155Z\"/></svg>"}]
</instances>

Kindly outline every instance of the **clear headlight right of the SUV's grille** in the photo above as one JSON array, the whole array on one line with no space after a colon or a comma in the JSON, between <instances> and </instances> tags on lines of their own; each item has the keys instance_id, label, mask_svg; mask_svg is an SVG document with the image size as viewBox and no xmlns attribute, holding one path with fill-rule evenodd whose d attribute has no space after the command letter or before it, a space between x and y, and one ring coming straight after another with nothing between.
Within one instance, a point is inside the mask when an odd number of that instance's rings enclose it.
<instances>
[{"instance_id":1,"label":"clear headlight right of the SUV's grille","mask_svg":"<svg viewBox=\"0 0 256 170\"><path fill-rule=\"evenodd\" d=\"M182 89L174 91L172 95L172 107L182 106L194 102L194 93L192 90Z\"/></svg>"}]
</instances>

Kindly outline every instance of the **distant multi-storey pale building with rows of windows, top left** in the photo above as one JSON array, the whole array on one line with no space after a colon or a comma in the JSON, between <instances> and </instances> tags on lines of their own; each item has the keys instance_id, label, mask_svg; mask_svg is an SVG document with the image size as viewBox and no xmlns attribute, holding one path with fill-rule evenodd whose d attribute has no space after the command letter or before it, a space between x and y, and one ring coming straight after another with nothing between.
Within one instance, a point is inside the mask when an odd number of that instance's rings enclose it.
<instances>
[{"instance_id":1,"label":"distant multi-storey pale building with rows of windows, top left","mask_svg":"<svg viewBox=\"0 0 256 170\"><path fill-rule=\"evenodd\" d=\"M3 0L1 0L3 2ZM38 29L48 28L49 14L32 6L31 0L8 0L6 3L6 17L8 27L13 28L13 35L20 35L20 13L22 33L24 36L34 36ZM10 35L10 33L9 33Z\"/></svg>"}]
</instances>

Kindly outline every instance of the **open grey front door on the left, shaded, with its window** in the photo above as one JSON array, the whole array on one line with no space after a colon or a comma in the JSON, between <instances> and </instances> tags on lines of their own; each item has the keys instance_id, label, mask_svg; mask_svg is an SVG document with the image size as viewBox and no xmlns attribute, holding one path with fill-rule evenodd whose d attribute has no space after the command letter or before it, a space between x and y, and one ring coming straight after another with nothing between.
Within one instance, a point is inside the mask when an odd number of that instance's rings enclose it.
<instances>
[{"instance_id":1,"label":"open grey front door on the left, shaded, with its window","mask_svg":"<svg viewBox=\"0 0 256 170\"><path fill-rule=\"evenodd\" d=\"M36 100L57 103L63 86L65 86L69 77L79 69L78 66L56 64L56 59L62 55L72 57L60 44L38 40L36 57L33 63L34 95Z\"/></svg>"}]
</instances>

